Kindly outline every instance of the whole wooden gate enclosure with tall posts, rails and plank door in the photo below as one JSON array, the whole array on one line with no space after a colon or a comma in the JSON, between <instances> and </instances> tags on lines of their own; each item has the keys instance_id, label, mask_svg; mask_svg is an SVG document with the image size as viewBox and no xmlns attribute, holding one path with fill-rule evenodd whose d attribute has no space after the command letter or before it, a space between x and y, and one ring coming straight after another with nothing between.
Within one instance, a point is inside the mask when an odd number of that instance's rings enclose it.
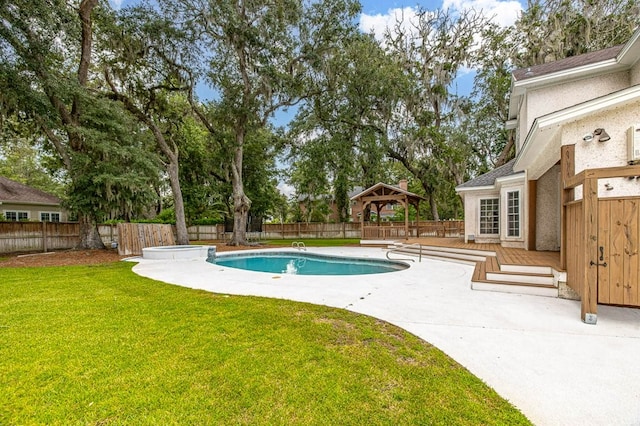
<instances>
[{"instance_id":1,"label":"whole wooden gate enclosure with tall posts, rails and plank door","mask_svg":"<svg viewBox=\"0 0 640 426\"><path fill-rule=\"evenodd\" d=\"M640 306L640 197L600 198L602 179L636 178L640 165L585 169L575 173L575 145L560 150L562 265L567 285L581 299L580 316L595 324L598 303ZM582 185L582 200L575 188ZM605 266L606 264L606 266Z\"/></svg>"}]
</instances>

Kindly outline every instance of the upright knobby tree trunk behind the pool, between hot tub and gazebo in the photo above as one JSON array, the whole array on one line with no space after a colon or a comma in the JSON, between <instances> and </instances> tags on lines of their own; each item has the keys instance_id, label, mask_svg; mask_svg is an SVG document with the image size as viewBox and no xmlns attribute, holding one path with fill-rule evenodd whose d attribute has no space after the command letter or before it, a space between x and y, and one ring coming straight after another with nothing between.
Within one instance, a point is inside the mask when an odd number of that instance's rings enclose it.
<instances>
[{"instance_id":1,"label":"upright knobby tree trunk behind the pool, between hot tub and gazebo","mask_svg":"<svg viewBox=\"0 0 640 426\"><path fill-rule=\"evenodd\" d=\"M231 184L233 186L233 236L229 245L246 246L247 243L247 218L251 208L251 200L244 193L244 182L242 180L242 160L244 155L244 136L238 134L237 145L231 165Z\"/></svg>"}]
</instances>

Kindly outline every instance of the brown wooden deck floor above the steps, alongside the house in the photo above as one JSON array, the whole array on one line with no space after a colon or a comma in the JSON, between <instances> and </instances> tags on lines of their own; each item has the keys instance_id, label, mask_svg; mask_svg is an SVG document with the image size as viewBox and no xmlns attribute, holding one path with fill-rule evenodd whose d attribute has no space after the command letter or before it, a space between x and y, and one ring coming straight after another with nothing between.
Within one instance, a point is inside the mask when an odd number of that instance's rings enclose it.
<instances>
[{"instance_id":1,"label":"brown wooden deck floor above the steps, alongside the house","mask_svg":"<svg viewBox=\"0 0 640 426\"><path fill-rule=\"evenodd\" d=\"M462 238L413 238L407 243L469 250L488 250L496 253L497 261L500 265L550 266L556 271L564 271L560 263L560 252L505 248L500 244L465 243Z\"/></svg>"}]
</instances>

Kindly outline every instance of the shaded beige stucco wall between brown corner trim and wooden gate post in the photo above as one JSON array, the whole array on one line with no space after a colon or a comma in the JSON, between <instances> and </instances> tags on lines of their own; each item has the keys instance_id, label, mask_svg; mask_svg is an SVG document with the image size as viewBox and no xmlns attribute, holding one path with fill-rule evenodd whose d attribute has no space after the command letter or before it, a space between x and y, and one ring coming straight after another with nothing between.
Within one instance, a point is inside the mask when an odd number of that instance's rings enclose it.
<instances>
[{"instance_id":1,"label":"shaded beige stucco wall between brown corner trim and wooden gate post","mask_svg":"<svg viewBox=\"0 0 640 426\"><path fill-rule=\"evenodd\" d=\"M538 179L536 194L536 250L560 250L560 166Z\"/></svg>"}]
</instances>

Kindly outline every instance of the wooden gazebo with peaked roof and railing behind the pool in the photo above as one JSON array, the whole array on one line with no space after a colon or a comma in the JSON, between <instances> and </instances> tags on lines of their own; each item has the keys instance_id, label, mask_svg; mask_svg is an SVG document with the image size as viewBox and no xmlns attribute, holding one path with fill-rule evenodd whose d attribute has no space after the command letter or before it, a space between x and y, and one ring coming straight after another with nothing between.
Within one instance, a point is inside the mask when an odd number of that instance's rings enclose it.
<instances>
[{"instance_id":1,"label":"wooden gazebo with peaked roof and railing behind the pool","mask_svg":"<svg viewBox=\"0 0 640 426\"><path fill-rule=\"evenodd\" d=\"M407 181L400 182L400 186L388 185L379 182L359 194L351 197L351 201L357 201L360 204L360 230L363 240L390 238L409 238L409 206L414 206L417 212L417 222L420 223L420 201L425 200L418 194L407 191ZM404 227L382 226L380 222L380 211L387 204L400 204L404 207ZM369 206L375 206L376 209L376 226L365 226L364 212ZM418 229L416 236L420 235Z\"/></svg>"}]
</instances>

